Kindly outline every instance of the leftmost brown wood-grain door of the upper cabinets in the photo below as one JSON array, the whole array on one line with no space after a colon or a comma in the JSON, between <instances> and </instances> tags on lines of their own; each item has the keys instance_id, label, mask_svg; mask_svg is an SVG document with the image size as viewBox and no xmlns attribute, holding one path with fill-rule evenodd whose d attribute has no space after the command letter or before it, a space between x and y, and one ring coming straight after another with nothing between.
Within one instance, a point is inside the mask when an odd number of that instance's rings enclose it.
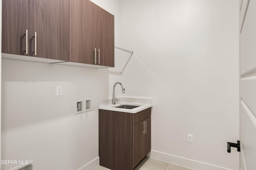
<instances>
[{"instance_id":1,"label":"leftmost brown wood-grain door of the upper cabinets","mask_svg":"<svg viewBox=\"0 0 256 170\"><path fill-rule=\"evenodd\" d=\"M2 53L27 55L26 30L28 0L2 0Z\"/></svg>"}]
</instances>

